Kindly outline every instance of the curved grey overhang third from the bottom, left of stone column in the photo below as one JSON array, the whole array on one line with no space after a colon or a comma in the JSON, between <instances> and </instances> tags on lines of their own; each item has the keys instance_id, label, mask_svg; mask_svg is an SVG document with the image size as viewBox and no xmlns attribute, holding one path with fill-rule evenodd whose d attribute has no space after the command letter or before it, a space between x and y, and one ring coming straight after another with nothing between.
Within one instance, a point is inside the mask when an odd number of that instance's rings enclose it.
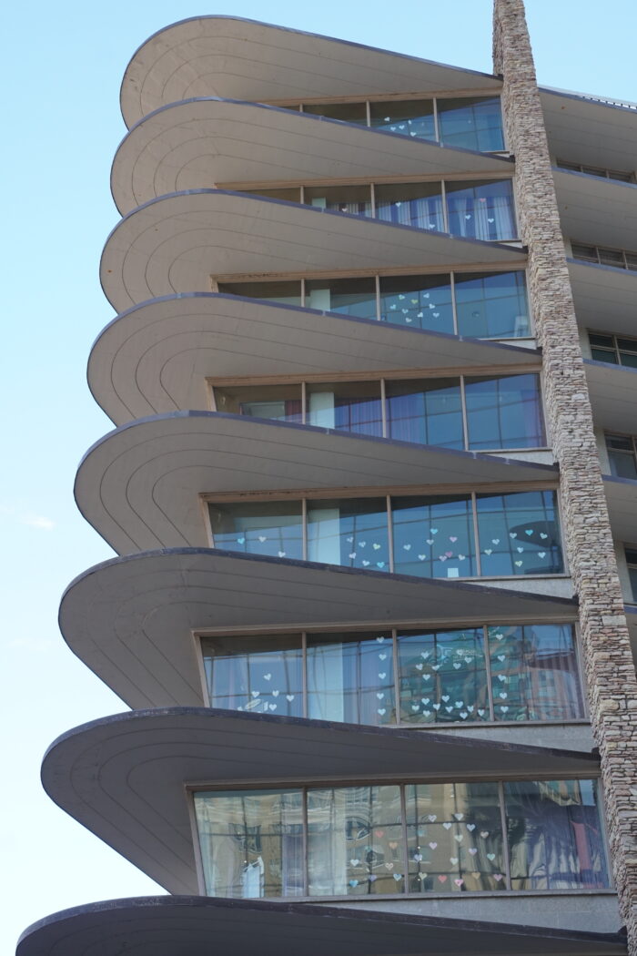
<instances>
[{"instance_id":1,"label":"curved grey overhang third from the bottom, left of stone column","mask_svg":"<svg viewBox=\"0 0 637 956\"><path fill-rule=\"evenodd\" d=\"M520 581L523 585L523 581ZM573 599L308 561L170 549L105 561L60 605L77 657L132 707L202 706L198 640L213 631L569 620Z\"/></svg>"}]
</instances>

